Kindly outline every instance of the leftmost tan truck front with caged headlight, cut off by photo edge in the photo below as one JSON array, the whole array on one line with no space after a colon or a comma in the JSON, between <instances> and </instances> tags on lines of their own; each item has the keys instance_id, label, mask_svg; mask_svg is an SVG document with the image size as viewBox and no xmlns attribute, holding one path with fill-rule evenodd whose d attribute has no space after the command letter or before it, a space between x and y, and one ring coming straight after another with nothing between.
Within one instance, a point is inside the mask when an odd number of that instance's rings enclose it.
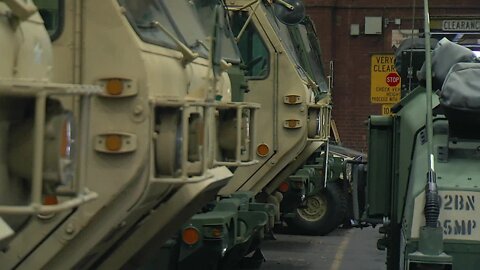
<instances>
[{"instance_id":1,"label":"leftmost tan truck front with caged headlight, cut off by photo edge","mask_svg":"<svg viewBox=\"0 0 480 270\"><path fill-rule=\"evenodd\" d=\"M0 265L10 269L30 252L25 231L97 197L85 186L79 146L100 89L49 82L52 47L32 1L0 1L0 14ZM61 103L72 98L77 117ZM3 256L10 250L15 258Z\"/></svg>"}]
</instances>

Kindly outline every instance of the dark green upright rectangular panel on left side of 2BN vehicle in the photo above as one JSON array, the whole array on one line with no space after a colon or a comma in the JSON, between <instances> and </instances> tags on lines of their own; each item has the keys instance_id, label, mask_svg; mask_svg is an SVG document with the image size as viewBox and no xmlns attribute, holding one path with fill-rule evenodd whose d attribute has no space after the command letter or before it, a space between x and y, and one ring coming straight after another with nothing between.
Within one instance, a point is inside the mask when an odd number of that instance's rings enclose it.
<instances>
[{"instance_id":1,"label":"dark green upright rectangular panel on left side of 2BN vehicle","mask_svg":"<svg viewBox=\"0 0 480 270\"><path fill-rule=\"evenodd\" d=\"M367 215L389 216L392 175L393 118L370 116L368 137Z\"/></svg>"}]
</instances>

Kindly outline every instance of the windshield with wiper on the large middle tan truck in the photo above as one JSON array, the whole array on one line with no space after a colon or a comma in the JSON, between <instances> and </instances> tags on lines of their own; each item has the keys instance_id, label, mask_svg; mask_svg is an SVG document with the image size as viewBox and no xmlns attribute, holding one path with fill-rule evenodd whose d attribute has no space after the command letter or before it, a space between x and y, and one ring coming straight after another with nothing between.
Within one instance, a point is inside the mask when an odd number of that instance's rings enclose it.
<instances>
[{"instance_id":1,"label":"windshield with wiper on the large middle tan truck","mask_svg":"<svg viewBox=\"0 0 480 270\"><path fill-rule=\"evenodd\" d=\"M201 56L208 55L207 36L194 6L187 0L119 0L127 18L140 38L147 42L176 48L175 42L152 22L158 22Z\"/></svg>"}]
</instances>

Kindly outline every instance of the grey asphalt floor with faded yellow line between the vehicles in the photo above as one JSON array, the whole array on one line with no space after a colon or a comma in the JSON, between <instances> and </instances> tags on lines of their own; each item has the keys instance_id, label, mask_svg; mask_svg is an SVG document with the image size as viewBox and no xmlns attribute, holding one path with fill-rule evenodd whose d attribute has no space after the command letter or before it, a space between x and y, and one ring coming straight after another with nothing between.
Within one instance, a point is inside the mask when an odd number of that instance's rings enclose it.
<instances>
[{"instance_id":1,"label":"grey asphalt floor with faded yellow line between the vehicles","mask_svg":"<svg viewBox=\"0 0 480 270\"><path fill-rule=\"evenodd\" d=\"M337 229L327 236L276 234L265 241L261 270L385 270L378 229Z\"/></svg>"}]
</instances>

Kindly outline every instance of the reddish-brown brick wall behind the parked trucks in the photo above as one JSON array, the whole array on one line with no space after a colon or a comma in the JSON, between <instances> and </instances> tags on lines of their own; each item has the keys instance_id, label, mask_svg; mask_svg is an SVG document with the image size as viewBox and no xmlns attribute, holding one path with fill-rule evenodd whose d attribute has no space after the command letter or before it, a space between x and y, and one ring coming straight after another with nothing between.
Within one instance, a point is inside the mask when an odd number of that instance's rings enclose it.
<instances>
[{"instance_id":1,"label":"reddish-brown brick wall behind the parked trucks","mask_svg":"<svg viewBox=\"0 0 480 270\"><path fill-rule=\"evenodd\" d=\"M430 1L430 15L480 15L478 0ZM334 62L333 117L343 145L367 151L365 121L381 114L381 105L370 103L370 55L393 52L392 29L411 29L413 1L384 0L305 0L322 46L325 70ZM417 0L415 28L423 29L423 1ZM401 19L384 25L382 35L350 36L350 25L364 31L365 16Z\"/></svg>"}]
</instances>

